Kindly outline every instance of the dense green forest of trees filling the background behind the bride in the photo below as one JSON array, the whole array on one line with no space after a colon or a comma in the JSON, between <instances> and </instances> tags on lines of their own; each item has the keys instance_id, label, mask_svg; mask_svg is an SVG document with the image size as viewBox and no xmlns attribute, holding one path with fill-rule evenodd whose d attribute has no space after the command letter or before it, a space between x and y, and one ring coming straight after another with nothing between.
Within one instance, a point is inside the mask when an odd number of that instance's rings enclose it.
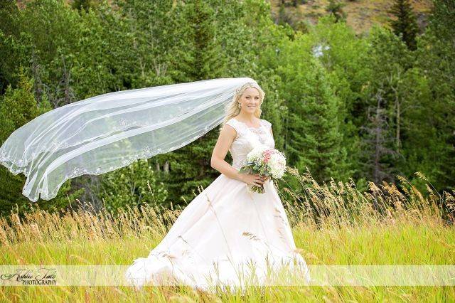
<instances>
[{"instance_id":1,"label":"dense green forest of trees filling the background behind the bride","mask_svg":"<svg viewBox=\"0 0 455 303\"><path fill-rule=\"evenodd\" d=\"M405 42L384 28L356 35L338 22L346 15L336 1L328 6L332 14L296 31L275 24L263 0L74 1L73 7L36 0L24 9L3 0L0 138L51 108L105 92L251 77L266 92L262 118L272 122L275 147L316 181L352 176L366 188L368 180L402 174L418 185L414 172L422 171L438 190L453 188L455 4L435 0L429 28L415 36L410 6L400 2L394 28ZM219 176L210 167L217 139L215 128L148 164L68 180L57 198L38 203L57 209L79 198L102 207L104 199L115 210L189 202ZM25 208L21 175L4 168L0 174L11 182L0 185L2 211L16 201Z\"/></svg>"}]
</instances>

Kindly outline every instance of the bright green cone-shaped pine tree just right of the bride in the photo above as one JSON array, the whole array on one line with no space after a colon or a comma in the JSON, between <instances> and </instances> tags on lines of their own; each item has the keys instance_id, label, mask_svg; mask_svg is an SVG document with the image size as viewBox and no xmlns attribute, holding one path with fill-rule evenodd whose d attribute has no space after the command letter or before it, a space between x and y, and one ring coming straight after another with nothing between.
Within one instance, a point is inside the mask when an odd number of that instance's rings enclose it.
<instances>
[{"instance_id":1,"label":"bright green cone-shaped pine tree just right of the bride","mask_svg":"<svg viewBox=\"0 0 455 303\"><path fill-rule=\"evenodd\" d=\"M294 86L294 85L293 85ZM286 151L288 165L304 171L307 166L318 181L347 179L346 150L341 147L338 100L326 71L314 60L305 78L295 85L300 96L289 102Z\"/></svg>"}]
</instances>

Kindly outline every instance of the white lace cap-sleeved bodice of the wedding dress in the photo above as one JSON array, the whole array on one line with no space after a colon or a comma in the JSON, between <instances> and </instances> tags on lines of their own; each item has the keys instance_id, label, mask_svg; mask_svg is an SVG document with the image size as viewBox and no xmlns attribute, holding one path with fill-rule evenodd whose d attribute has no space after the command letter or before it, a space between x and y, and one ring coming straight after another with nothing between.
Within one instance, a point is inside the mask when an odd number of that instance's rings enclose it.
<instances>
[{"instance_id":1,"label":"white lace cap-sleeved bodice of the wedding dress","mask_svg":"<svg viewBox=\"0 0 455 303\"><path fill-rule=\"evenodd\" d=\"M235 169L240 169L246 164L247 154L257 144L265 144L272 149L275 148L275 141L270 133L272 123L264 119L260 119L260 121L260 127L249 127L235 118L231 118L226 122L237 132L237 136L229 149L232 156L232 167Z\"/></svg>"}]
</instances>

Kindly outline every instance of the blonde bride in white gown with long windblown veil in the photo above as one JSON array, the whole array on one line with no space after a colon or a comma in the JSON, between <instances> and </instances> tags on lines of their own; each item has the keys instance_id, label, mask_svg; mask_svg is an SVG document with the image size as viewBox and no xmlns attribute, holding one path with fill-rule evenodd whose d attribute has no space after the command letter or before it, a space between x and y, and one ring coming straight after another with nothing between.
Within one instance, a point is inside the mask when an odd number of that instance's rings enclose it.
<instances>
[{"instance_id":1,"label":"blonde bride in white gown with long windblown veil","mask_svg":"<svg viewBox=\"0 0 455 303\"><path fill-rule=\"evenodd\" d=\"M27 176L23 195L50 200L68 179L99 175L193 142L221 124L211 166L220 176L178 216L161 243L127 267L129 285L178 282L198 289L274 285L288 265L309 282L272 180L240 174L257 146L274 148L252 78L218 78L109 92L55 108L16 129L0 164ZM224 159L230 151L232 164ZM264 186L255 193L250 186ZM294 276L293 276L294 277ZM287 283L287 282L286 282ZM288 285L287 283L286 285Z\"/></svg>"}]
</instances>

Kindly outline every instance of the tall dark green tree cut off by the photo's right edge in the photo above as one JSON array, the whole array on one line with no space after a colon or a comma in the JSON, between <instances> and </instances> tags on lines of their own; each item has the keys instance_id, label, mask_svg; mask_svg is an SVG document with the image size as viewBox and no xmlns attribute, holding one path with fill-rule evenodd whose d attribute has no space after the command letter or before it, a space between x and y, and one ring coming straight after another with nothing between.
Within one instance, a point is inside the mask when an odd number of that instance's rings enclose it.
<instances>
[{"instance_id":1,"label":"tall dark green tree cut off by the photo's right edge","mask_svg":"<svg viewBox=\"0 0 455 303\"><path fill-rule=\"evenodd\" d=\"M424 103L414 119L415 127L422 131L422 141L413 148L419 155L414 159L424 162L432 184L446 190L454 188L455 180L454 26L455 1L434 1L429 28L417 41L415 62L420 77L414 95ZM419 90L421 87L424 89ZM421 144L426 148L419 149Z\"/></svg>"}]
</instances>

